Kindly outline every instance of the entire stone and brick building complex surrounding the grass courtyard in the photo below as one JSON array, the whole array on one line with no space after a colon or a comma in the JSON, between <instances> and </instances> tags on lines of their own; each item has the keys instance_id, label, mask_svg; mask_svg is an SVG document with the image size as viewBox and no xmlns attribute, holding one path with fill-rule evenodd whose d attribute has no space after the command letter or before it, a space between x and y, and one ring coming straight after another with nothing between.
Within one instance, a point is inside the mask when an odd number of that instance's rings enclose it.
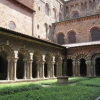
<instances>
[{"instance_id":1,"label":"entire stone and brick building complex surrounding the grass courtyard","mask_svg":"<svg viewBox=\"0 0 100 100\"><path fill-rule=\"evenodd\" d=\"M0 80L100 76L100 0L0 0Z\"/></svg>"}]
</instances>

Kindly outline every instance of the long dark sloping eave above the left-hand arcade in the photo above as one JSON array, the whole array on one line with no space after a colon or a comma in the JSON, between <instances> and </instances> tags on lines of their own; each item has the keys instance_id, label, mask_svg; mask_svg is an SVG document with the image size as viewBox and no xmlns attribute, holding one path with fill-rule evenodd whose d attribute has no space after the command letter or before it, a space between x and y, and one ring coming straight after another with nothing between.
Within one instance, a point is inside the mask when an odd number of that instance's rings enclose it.
<instances>
[{"instance_id":1,"label":"long dark sloping eave above the left-hand arcade","mask_svg":"<svg viewBox=\"0 0 100 100\"><path fill-rule=\"evenodd\" d=\"M32 43L37 43L37 44L52 47L52 48L57 48L57 49L61 49L61 50L66 49L65 47L60 46L58 44L43 41L43 40L28 36L28 35L25 35L25 34L14 32L14 31L11 31L11 30L7 30L7 29L4 29L4 28L0 28L0 34L4 35L4 36L9 36L11 38L16 38L16 39L20 39L20 40L28 41L28 42L32 42Z\"/></svg>"}]
</instances>

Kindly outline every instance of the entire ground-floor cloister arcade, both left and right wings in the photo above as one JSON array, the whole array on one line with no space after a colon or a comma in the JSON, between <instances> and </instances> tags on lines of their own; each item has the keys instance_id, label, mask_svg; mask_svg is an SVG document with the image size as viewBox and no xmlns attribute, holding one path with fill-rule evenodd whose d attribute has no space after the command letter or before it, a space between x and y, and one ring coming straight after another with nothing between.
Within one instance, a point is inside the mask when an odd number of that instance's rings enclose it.
<instances>
[{"instance_id":1,"label":"entire ground-floor cloister arcade, both left and right wings","mask_svg":"<svg viewBox=\"0 0 100 100\"><path fill-rule=\"evenodd\" d=\"M55 78L65 71L67 76L100 76L100 52L93 54L91 60L80 53L75 60L67 59L66 66L63 63L60 56L50 53L29 53L26 48L13 51L8 45L0 46L0 80Z\"/></svg>"}]
</instances>

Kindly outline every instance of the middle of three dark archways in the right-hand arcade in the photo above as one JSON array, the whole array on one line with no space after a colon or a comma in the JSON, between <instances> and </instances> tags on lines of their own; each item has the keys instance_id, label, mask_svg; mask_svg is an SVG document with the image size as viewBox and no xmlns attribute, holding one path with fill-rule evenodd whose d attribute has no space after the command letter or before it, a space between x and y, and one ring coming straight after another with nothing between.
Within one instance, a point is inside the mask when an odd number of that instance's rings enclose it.
<instances>
[{"instance_id":1,"label":"middle of three dark archways in the right-hand arcade","mask_svg":"<svg viewBox=\"0 0 100 100\"><path fill-rule=\"evenodd\" d=\"M85 59L80 60L80 75L81 76L87 75L87 67L86 67Z\"/></svg>"}]
</instances>

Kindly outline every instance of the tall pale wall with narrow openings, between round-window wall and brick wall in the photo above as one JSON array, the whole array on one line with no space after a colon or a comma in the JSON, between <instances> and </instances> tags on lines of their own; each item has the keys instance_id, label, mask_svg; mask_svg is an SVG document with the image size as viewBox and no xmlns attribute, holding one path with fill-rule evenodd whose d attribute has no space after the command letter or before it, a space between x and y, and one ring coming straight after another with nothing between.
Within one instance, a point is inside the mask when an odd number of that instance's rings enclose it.
<instances>
[{"instance_id":1,"label":"tall pale wall with narrow openings, between round-window wall and brick wall","mask_svg":"<svg viewBox=\"0 0 100 100\"><path fill-rule=\"evenodd\" d=\"M45 5L49 4L49 15L45 13ZM56 18L54 17L53 8L56 11ZM52 23L59 21L59 13L62 14L63 20L63 2L61 0L36 0L34 3L34 36L46 39L52 36L50 29L52 28ZM47 25L47 35L46 28ZM52 29L51 29L52 30Z\"/></svg>"}]
</instances>

